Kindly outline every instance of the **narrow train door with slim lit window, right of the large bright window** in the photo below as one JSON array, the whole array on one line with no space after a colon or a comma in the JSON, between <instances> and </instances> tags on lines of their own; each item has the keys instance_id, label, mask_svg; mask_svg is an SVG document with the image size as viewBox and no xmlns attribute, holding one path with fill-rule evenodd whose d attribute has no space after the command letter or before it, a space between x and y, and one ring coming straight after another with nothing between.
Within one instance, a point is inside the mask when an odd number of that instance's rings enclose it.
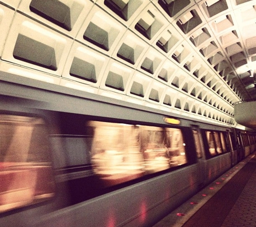
<instances>
[{"instance_id":1,"label":"narrow train door with slim lit window, right of the large bright window","mask_svg":"<svg viewBox=\"0 0 256 227\"><path fill-rule=\"evenodd\" d=\"M195 141L196 147L196 154L197 154L197 161L199 164L199 180L200 180L200 187L204 186L204 179L205 179L205 163L204 163L204 152L203 152L203 140L200 134L199 126L192 125L192 133L193 139Z\"/></svg>"}]
</instances>

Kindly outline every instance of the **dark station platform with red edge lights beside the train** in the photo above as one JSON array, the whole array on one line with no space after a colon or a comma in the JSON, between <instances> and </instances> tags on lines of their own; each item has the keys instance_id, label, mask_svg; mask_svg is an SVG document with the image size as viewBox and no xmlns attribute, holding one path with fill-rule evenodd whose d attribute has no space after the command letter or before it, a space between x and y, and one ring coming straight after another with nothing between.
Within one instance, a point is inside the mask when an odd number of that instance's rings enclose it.
<instances>
[{"instance_id":1,"label":"dark station platform with red edge lights beside the train","mask_svg":"<svg viewBox=\"0 0 256 227\"><path fill-rule=\"evenodd\" d=\"M255 227L256 153L249 155L154 227Z\"/></svg>"}]
</instances>

